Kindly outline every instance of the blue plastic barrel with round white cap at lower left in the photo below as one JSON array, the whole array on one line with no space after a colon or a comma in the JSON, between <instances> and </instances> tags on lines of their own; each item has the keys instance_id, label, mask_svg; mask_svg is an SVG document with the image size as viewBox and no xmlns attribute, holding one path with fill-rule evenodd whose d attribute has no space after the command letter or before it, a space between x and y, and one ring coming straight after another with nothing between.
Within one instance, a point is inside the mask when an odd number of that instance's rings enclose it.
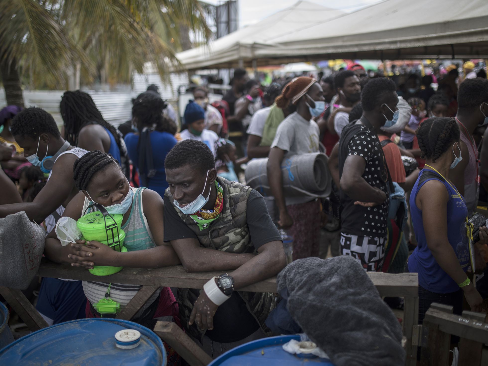
<instances>
[{"instance_id":1,"label":"blue plastic barrel with round white cap at lower left","mask_svg":"<svg viewBox=\"0 0 488 366\"><path fill-rule=\"evenodd\" d=\"M141 332L139 346L118 348L115 333ZM166 366L163 342L151 330L127 320L80 319L28 334L0 349L0 365Z\"/></svg>"}]
</instances>

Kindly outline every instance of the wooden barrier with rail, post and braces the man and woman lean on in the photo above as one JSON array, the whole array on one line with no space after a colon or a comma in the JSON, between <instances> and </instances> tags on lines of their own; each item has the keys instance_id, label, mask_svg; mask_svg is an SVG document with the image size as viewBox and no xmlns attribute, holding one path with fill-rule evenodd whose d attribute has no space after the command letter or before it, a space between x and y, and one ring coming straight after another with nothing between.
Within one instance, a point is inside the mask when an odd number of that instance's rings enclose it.
<instances>
[{"instance_id":1,"label":"wooden barrier with rail, post and braces the man and woman lean on","mask_svg":"<svg viewBox=\"0 0 488 366\"><path fill-rule=\"evenodd\" d=\"M124 268L119 273L99 277L92 275L83 268L72 267L69 264L56 264L46 260L41 261L38 275L41 277L64 278L82 281L103 281L127 285L142 285L136 296L124 307L117 316L118 319L130 320L152 296L159 286L203 288L203 285L219 272L187 273L183 266L176 265L156 269ZM402 297L404 306L404 335L407 338L407 366L413 366L417 360L417 346L412 345L414 325L418 323L418 276L416 273L388 274L382 272L367 272L369 278L383 297ZM243 291L277 292L276 277L242 288ZM47 326L44 319L34 306L25 298L20 290L0 287L1 295L19 314L31 330L38 330ZM165 325L158 328L162 330ZM161 334L161 333L160 333ZM175 337L176 339L177 337ZM170 342L167 342L171 345ZM176 347L173 346L176 349ZM182 355L184 358L184 356ZM187 360L188 361L188 360ZM189 361L188 361L189 362ZM191 364L197 365L195 363Z\"/></svg>"}]
</instances>

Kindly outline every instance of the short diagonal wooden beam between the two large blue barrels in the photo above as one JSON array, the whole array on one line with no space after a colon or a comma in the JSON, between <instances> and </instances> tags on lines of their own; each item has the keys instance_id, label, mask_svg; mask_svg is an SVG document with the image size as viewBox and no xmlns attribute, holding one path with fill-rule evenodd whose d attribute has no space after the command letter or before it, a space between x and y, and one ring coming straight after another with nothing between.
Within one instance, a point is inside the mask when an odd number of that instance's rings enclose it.
<instances>
[{"instance_id":1,"label":"short diagonal wooden beam between the two large blue barrels","mask_svg":"<svg viewBox=\"0 0 488 366\"><path fill-rule=\"evenodd\" d=\"M154 332L190 366L206 366L212 362L212 358L205 353L202 347L193 342L175 323L159 321L154 326Z\"/></svg>"}]
</instances>

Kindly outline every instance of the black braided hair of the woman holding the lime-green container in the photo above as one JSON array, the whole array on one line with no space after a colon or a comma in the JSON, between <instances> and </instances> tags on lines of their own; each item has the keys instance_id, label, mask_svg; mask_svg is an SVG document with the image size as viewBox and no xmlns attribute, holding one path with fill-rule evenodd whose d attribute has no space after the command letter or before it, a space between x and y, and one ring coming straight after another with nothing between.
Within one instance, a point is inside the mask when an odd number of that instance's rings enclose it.
<instances>
[{"instance_id":1,"label":"black braided hair of the woman holding the lime-green container","mask_svg":"<svg viewBox=\"0 0 488 366\"><path fill-rule=\"evenodd\" d=\"M112 155L102 153L100 150L93 150L83 155L80 159L75 161L73 165L73 179L75 181L76 188L79 190L86 190L86 187L90 183L93 174L102 170L107 165L115 163L119 166L119 163L112 158Z\"/></svg>"}]
</instances>

